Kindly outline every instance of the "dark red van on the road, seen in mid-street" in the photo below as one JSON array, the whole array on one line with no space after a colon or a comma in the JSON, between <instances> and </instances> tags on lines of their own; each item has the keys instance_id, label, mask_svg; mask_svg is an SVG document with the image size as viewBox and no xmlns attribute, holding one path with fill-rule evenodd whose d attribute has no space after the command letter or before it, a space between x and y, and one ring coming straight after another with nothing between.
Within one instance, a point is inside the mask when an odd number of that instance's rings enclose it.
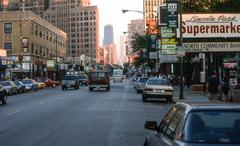
<instances>
[{"instance_id":1,"label":"dark red van on the road, seen in mid-street","mask_svg":"<svg viewBox=\"0 0 240 146\"><path fill-rule=\"evenodd\" d=\"M106 91L110 91L110 76L105 71L92 71L88 74L89 91L94 88L106 88Z\"/></svg>"}]
</instances>

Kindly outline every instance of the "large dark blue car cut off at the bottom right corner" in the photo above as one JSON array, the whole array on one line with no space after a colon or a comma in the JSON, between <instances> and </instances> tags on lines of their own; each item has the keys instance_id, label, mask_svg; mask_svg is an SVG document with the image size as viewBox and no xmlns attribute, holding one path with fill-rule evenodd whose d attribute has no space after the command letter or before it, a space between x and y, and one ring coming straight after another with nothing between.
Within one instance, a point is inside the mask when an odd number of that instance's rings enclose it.
<instances>
[{"instance_id":1,"label":"large dark blue car cut off at the bottom right corner","mask_svg":"<svg viewBox=\"0 0 240 146\"><path fill-rule=\"evenodd\" d=\"M240 106L177 103L161 120L147 121L152 130L144 146L239 146Z\"/></svg>"}]
</instances>

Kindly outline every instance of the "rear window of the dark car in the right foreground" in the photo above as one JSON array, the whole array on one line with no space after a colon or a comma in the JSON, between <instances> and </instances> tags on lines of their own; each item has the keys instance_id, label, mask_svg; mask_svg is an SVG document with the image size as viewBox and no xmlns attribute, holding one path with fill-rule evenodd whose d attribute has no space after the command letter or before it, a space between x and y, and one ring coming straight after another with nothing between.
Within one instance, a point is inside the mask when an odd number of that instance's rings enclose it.
<instances>
[{"instance_id":1,"label":"rear window of the dark car in the right foreground","mask_svg":"<svg viewBox=\"0 0 240 146\"><path fill-rule=\"evenodd\" d=\"M240 144L240 110L191 112L184 133L190 143Z\"/></svg>"}]
</instances>

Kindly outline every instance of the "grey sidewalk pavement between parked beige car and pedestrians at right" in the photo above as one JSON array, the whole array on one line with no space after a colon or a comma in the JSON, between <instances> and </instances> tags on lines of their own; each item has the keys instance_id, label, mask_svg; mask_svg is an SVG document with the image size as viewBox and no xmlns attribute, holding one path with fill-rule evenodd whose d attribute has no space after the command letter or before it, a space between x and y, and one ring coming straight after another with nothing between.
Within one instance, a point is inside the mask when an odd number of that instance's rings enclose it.
<instances>
[{"instance_id":1,"label":"grey sidewalk pavement between parked beige car and pedestrians at right","mask_svg":"<svg viewBox=\"0 0 240 146\"><path fill-rule=\"evenodd\" d=\"M192 91L191 88L184 87L183 97L184 99L179 99L179 86L174 87L173 100L175 102L209 102L207 93Z\"/></svg>"}]
</instances>

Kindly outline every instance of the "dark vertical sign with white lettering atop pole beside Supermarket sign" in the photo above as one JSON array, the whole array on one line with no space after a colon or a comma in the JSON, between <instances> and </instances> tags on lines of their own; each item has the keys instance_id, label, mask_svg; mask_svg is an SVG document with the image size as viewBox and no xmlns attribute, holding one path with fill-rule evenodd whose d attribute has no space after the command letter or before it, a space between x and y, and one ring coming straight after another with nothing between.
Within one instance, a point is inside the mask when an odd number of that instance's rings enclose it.
<instances>
[{"instance_id":1,"label":"dark vertical sign with white lettering atop pole beside Supermarket sign","mask_svg":"<svg viewBox=\"0 0 240 146\"><path fill-rule=\"evenodd\" d=\"M167 26L178 28L178 4L167 3Z\"/></svg>"}]
</instances>

